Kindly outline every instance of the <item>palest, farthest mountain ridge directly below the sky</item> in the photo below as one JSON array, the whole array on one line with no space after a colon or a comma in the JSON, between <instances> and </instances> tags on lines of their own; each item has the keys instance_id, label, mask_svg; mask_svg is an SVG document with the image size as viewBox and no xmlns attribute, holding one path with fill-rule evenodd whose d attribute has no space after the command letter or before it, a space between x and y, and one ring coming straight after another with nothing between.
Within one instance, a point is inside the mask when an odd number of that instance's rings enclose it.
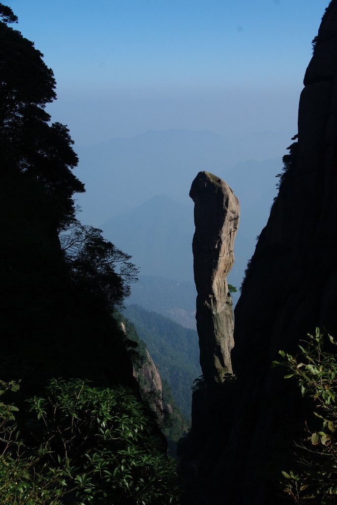
<instances>
[{"instance_id":1,"label":"palest, farthest mountain ridge directly below the sky","mask_svg":"<svg viewBox=\"0 0 337 505\"><path fill-rule=\"evenodd\" d=\"M131 138L78 146L80 162L75 173L86 186L86 193L77 200L83 207L83 220L101 226L163 192L187 203L191 181L200 170L226 180L240 162L286 154L284 146L293 134L266 131L221 136L209 130L148 130Z\"/></svg>"}]
</instances>

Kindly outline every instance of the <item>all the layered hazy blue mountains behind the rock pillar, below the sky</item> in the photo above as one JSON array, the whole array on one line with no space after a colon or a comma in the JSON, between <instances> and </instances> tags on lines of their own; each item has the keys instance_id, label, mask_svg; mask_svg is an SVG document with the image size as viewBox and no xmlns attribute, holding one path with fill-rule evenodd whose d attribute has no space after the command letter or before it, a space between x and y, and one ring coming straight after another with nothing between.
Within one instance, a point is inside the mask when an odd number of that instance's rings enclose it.
<instances>
[{"instance_id":1,"label":"all the layered hazy blue mountains behind the rock pillar, below the sky","mask_svg":"<svg viewBox=\"0 0 337 505\"><path fill-rule=\"evenodd\" d=\"M233 164L245 154L261 156L263 145L266 153L279 153L283 142L286 154L290 141L285 137L246 134L241 143L235 135L224 138L208 130L149 130L78 148L76 173L87 191L78 197L83 207L79 217L102 228L106 238L132 255L142 276L193 282L193 202L188 193L197 172L210 171L226 180L240 200L235 265L228 279L239 287L277 194L282 156Z\"/></svg>"}]
</instances>

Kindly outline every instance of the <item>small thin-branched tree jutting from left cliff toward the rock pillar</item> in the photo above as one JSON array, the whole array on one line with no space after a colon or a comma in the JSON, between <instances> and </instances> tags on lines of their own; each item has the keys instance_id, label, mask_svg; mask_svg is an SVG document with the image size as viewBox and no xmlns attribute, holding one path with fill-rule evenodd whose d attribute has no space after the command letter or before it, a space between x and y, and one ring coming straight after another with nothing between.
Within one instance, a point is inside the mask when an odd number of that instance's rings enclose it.
<instances>
[{"instance_id":1,"label":"small thin-branched tree jutting from left cliff toward the rock pillar","mask_svg":"<svg viewBox=\"0 0 337 505\"><path fill-rule=\"evenodd\" d=\"M122 307L130 294L129 283L137 282L138 268L131 256L102 236L102 230L75 221L59 235L73 283L95 295L109 310Z\"/></svg>"}]
</instances>

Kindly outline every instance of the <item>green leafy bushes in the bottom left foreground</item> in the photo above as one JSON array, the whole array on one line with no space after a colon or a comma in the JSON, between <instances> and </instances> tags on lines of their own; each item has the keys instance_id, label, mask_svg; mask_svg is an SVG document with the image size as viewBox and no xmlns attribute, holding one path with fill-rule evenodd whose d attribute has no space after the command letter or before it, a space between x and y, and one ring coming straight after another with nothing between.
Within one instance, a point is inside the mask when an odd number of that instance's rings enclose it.
<instances>
[{"instance_id":1,"label":"green leafy bushes in the bottom left foreground","mask_svg":"<svg viewBox=\"0 0 337 505\"><path fill-rule=\"evenodd\" d=\"M176 463L132 391L80 379L52 379L46 391L28 400L35 448L18 438L18 409L0 405L1 503L177 503Z\"/></svg>"}]
</instances>

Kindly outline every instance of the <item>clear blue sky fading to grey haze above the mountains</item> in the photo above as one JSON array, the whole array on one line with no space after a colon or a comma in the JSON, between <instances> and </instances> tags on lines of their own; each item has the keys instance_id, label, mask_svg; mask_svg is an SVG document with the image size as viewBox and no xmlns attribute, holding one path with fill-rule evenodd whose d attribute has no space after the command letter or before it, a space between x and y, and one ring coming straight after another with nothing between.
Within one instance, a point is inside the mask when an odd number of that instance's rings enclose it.
<instances>
[{"instance_id":1,"label":"clear blue sky fading to grey haze above the mountains","mask_svg":"<svg viewBox=\"0 0 337 505\"><path fill-rule=\"evenodd\" d=\"M327 0L9 0L79 145L148 129L296 132Z\"/></svg>"}]
</instances>

